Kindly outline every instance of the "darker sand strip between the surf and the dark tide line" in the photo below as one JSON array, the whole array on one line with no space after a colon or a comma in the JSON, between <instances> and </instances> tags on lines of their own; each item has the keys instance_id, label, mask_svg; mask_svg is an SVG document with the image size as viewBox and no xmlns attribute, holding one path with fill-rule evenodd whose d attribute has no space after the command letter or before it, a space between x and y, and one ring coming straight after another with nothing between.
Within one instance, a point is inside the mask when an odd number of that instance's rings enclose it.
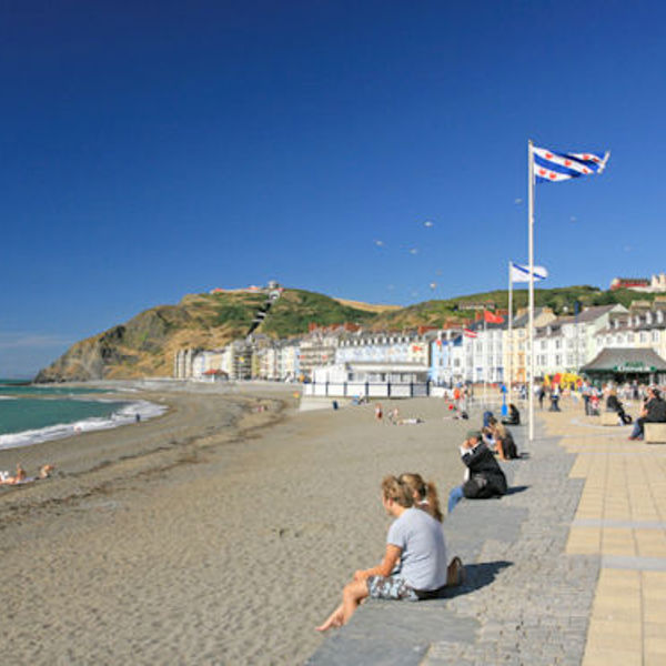
<instances>
[{"instance_id":1,"label":"darker sand strip between the surf and the dark tide line","mask_svg":"<svg viewBox=\"0 0 666 666\"><path fill-rule=\"evenodd\" d=\"M90 384L90 387L97 385ZM46 481L0 486L0 529L8 522L16 523L31 515L39 506L51 507L60 502L74 502L77 497L109 493L114 484L129 478L145 478L188 464L200 451L252 436L253 431L278 423L285 407L283 401L270 396L225 392L201 395L188 386L167 393L148 393L134 387L130 391L93 395L114 402L147 401L163 406L164 411L140 423L127 422L0 448L0 468L13 470L18 463L29 472L47 463L56 466L53 475ZM218 400L221 405L216 404ZM253 412L258 403L270 402L272 408Z\"/></svg>"}]
</instances>

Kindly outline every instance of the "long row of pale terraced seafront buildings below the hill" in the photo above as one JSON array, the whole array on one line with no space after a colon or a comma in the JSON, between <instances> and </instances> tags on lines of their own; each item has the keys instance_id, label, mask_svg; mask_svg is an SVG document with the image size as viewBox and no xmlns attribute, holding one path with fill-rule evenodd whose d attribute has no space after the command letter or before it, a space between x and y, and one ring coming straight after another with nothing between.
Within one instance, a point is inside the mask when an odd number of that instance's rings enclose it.
<instances>
[{"instance_id":1,"label":"long row of pale terraced seafront buildings below the hill","mask_svg":"<svg viewBox=\"0 0 666 666\"><path fill-rule=\"evenodd\" d=\"M506 317L505 317L506 319ZM603 350L644 349L666 359L666 300L588 307L571 316L535 311L535 376L576 373ZM315 383L525 382L527 314L512 322L474 322L443 330L366 331L355 325L316 327L301 337L255 335L222 350L181 350L174 376L263 379Z\"/></svg>"}]
</instances>

